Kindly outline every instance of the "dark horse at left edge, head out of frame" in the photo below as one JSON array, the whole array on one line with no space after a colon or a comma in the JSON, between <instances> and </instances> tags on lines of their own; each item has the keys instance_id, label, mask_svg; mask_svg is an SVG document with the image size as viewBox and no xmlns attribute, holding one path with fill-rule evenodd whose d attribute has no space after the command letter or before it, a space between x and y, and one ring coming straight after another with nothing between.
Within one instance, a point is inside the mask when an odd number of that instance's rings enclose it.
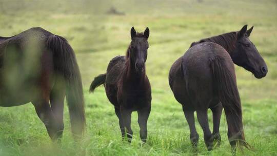
<instances>
[{"instance_id":1,"label":"dark horse at left edge, head out of frame","mask_svg":"<svg viewBox=\"0 0 277 156\"><path fill-rule=\"evenodd\" d=\"M31 102L56 140L64 130L65 96L72 132L80 136L86 124L82 80L65 38L39 27L0 37L0 106Z\"/></svg>"}]
</instances>

